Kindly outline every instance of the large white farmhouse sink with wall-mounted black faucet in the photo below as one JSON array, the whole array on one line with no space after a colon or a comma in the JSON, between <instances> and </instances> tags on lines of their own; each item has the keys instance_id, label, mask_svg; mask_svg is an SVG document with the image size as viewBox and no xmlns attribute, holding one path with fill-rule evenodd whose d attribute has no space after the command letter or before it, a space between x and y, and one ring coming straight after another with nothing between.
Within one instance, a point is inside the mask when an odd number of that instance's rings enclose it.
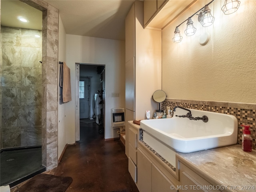
<instances>
[{"instance_id":1,"label":"large white farmhouse sink with wall-mounted black faucet","mask_svg":"<svg viewBox=\"0 0 256 192\"><path fill-rule=\"evenodd\" d=\"M168 147L174 152L184 153L237 143L238 122L234 116L192 109L193 117L207 116L208 122L175 116L186 113L176 108L172 118L140 121L143 141L156 152ZM161 153L164 155L164 150Z\"/></svg>"}]
</instances>

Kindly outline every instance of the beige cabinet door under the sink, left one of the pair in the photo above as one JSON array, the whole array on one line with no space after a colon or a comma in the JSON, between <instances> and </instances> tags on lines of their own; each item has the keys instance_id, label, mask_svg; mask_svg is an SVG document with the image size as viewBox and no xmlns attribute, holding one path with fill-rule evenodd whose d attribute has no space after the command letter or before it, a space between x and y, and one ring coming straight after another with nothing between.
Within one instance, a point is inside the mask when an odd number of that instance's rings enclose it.
<instances>
[{"instance_id":1,"label":"beige cabinet door under the sink, left one of the pair","mask_svg":"<svg viewBox=\"0 0 256 192\"><path fill-rule=\"evenodd\" d=\"M151 192L151 164L150 159L137 150L137 186L140 192Z\"/></svg>"}]
</instances>

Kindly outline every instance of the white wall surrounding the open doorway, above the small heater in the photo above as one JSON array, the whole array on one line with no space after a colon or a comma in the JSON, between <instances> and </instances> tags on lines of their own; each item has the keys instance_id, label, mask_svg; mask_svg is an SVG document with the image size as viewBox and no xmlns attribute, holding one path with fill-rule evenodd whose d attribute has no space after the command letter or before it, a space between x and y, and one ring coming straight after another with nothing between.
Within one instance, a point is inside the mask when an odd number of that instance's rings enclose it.
<instances>
[{"instance_id":1,"label":"white wall surrounding the open doorway, above the small heater","mask_svg":"<svg viewBox=\"0 0 256 192\"><path fill-rule=\"evenodd\" d=\"M75 63L105 65L105 139L113 138L111 108L125 106L125 42L118 40L66 35L66 64L71 73L72 101L68 108L70 128L68 142L75 140ZM119 92L120 97L112 97Z\"/></svg>"}]
</instances>

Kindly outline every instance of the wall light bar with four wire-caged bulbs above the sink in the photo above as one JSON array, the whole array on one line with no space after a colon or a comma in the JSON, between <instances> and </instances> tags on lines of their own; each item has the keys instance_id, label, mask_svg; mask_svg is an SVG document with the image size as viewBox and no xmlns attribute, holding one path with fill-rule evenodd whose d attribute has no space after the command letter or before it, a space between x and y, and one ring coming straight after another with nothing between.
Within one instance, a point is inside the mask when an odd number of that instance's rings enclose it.
<instances>
[{"instance_id":1,"label":"wall light bar with four wire-caged bulbs above the sink","mask_svg":"<svg viewBox=\"0 0 256 192\"><path fill-rule=\"evenodd\" d=\"M193 21L191 19L194 15L198 15L198 22L200 22L203 27L208 27L213 24L215 17L212 16L209 5L214 1L215 0L212 0L211 2L206 4L203 8L195 12L192 16L190 16L188 19L184 21L187 21L186 30L184 31L186 36L192 36L196 33L196 28L194 27ZM231 14L238 10L239 5L240 1L238 0L225 0L224 6L222 6L221 10L224 12L224 14ZM197 14L198 12L200 13ZM181 24L183 24L184 22L182 22ZM172 38L172 41L174 43L179 43L182 40L182 36L180 35L180 30L178 28L181 24L179 24L175 28L174 37Z\"/></svg>"}]
</instances>

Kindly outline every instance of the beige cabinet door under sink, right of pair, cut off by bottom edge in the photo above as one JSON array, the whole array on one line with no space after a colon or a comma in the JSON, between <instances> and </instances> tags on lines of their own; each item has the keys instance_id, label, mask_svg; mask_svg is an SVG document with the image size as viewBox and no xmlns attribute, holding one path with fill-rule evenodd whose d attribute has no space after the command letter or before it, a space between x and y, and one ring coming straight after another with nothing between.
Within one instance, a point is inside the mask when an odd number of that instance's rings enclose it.
<instances>
[{"instance_id":1,"label":"beige cabinet door under sink, right of pair, cut off by bottom edge","mask_svg":"<svg viewBox=\"0 0 256 192\"><path fill-rule=\"evenodd\" d=\"M152 192L177 192L174 184L152 164Z\"/></svg>"}]
</instances>

